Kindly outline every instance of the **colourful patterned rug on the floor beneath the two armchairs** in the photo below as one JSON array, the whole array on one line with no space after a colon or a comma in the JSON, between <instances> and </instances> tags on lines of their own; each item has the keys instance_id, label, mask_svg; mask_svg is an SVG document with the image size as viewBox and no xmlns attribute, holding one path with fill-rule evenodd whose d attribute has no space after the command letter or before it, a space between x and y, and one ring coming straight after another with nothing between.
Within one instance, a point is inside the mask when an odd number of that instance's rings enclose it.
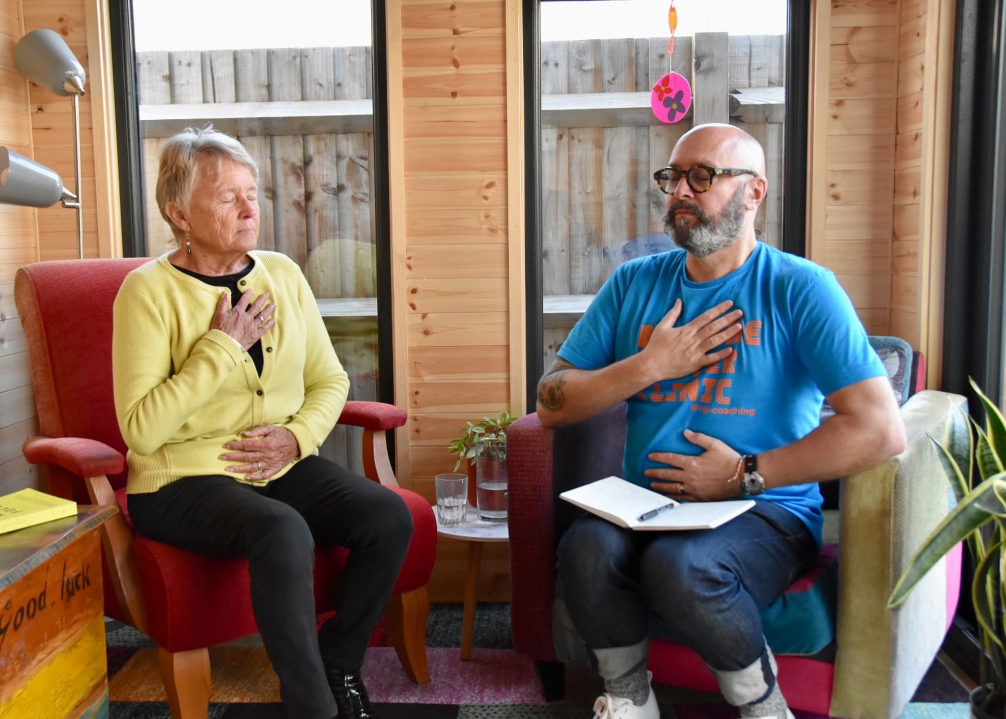
<instances>
[{"instance_id":1,"label":"colourful patterned rug on the floor beneath the two armchairs","mask_svg":"<svg viewBox=\"0 0 1006 719\"><path fill-rule=\"evenodd\" d=\"M600 680L567 671L566 697L546 704L531 661L510 641L508 604L485 604L476 615L472 659L461 660L460 604L432 607L428 647L432 682L416 686L401 671L379 628L367 652L364 682L381 719L588 719ZM383 645L383 646L382 646ZM153 643L132 627L108 625L110 719L169 719ZM286 719L279 681L258 637L210 650L209 719ZM717 695L656 687L665 719L735 719ZM934 664L902 719L968 719L967 691ZM797 712L798 719L823 719Z\"/></svg>"}]
</instances>

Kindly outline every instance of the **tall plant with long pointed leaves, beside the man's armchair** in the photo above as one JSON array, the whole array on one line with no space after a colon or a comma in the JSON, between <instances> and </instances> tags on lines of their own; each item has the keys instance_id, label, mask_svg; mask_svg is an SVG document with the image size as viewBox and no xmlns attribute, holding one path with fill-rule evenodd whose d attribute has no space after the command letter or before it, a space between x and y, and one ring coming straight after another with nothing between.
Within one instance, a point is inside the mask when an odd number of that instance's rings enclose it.
<instances>
[{"instance_id":1,"label":"tall plant with long pointed leaves, beside the man's armchair","mask_svg":"<svg viewBox=\"0 0 1006 719\"><path fill-rule=\"evenodd\" d=\"M1006 420L999 408L972 380L971 386L985 406L985 427L971 420L967 452L955 452L933 437L958 505L923 542L901 575L888 606L903 602L911 589L961 541L967 541L975 566L971 600L982 638L981 677L971 693L975 719L1006 719L1006 591L1004 541L1006 541ZM963 433L963 432L962 432ZM977 446L975 435L978 436ZM953 443L953 442L952 442ZM960 461L955 459L960 457ZM977 466L981 482L975 484Z\"/></svg>"}]
</instances>

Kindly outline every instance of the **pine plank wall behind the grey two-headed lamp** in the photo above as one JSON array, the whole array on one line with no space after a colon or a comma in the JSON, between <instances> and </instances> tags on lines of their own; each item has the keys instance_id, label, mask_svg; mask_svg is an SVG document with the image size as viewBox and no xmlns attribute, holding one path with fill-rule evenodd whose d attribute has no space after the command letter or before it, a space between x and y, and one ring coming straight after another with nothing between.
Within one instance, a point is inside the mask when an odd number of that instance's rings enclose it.
<instances>
[{"instance_id":1,"label":"pine plank wall behind the grey two-headed lamp","mask_svg":"<svg viewBox=\"0 0 1006 719\"><path fill-rule=\"evenodd\" d=\"M98 0L0 0L0 144L52 168L73 184L71 105L25 80L14 67L14 46L41 27L55 30L88 71L80 103L85 256L120 256L118 168L114 123L106 111L107 15ZM101 45L101 46L100 46ZM90 50L92 51L89 51ZM102 108L93 121L92 103ZM100 148L96 170L95 147ZM101 231L100 231L101 230ZM0 493L41 487L21 443L37 432L27 347L14 307L14 273L39 259L77 256L76 217L59 205L27 209L0 205Z\"/></svg>"}]
</instances>

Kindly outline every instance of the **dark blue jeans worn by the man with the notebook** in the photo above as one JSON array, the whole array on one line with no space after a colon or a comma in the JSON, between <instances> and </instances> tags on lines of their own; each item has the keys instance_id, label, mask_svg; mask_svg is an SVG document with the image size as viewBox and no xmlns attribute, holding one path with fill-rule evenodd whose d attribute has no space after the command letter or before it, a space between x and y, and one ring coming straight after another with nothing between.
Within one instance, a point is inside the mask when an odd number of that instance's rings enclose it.
<instances>
[{"instance_id":1,"label":"dark blue jeans worn by the man with the notebook","mask_svg":"<svg viewBox=\"0 0 1006 719\"><path fill-rule=\"evenodd\" d=\"M562 535L558 577L592 650L639 646L655 615L661 639L735 671L765 652L761 610L817 555L800 518L767 501L716 529L688 532L634 532L588 515Z\"/></svg>"}]
</instances>

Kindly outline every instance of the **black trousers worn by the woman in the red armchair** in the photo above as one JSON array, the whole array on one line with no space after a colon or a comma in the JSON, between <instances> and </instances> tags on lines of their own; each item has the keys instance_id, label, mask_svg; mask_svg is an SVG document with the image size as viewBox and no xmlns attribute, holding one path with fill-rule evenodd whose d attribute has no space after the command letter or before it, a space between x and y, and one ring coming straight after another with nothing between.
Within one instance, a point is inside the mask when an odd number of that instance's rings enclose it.
<instances>
[{"instance_id":1,"label":"black trousers worn by the woman in the red armchair","mask_svg":"<svg viewBox=\"0 0 1006 719\"><path fill-rule=\"evenodd\" d=\"M252 605L288 716L331 719L325 667L357 671L408 551L412 516L396 494L320 457L265 487L187 477L129 496L136 529L158 542L249 562ZM347 547L337 613L315 633L315 544Z\"/></svg>"}]
</instances>

